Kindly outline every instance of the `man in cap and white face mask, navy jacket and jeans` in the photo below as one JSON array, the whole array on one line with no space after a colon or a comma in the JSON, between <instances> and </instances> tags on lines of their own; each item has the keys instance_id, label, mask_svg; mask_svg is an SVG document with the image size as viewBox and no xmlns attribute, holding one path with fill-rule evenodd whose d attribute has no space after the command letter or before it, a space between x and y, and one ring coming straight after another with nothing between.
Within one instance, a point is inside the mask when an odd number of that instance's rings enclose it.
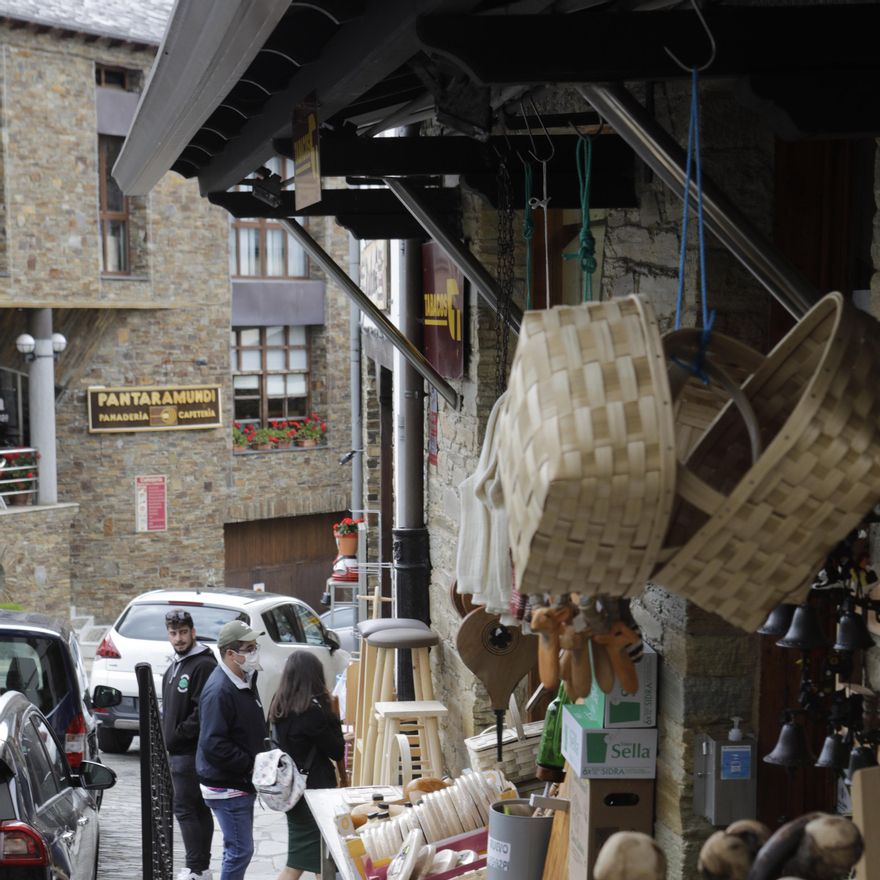
<instances>
[{"instance_id":1,"label":"man in cap and white face mask, navy jacket and jeans","mask_svg":"<svg viewBox=\"0 0 880 880\"><path fill-rule=\"evenodd\" d=\"M268 729L257 694L261 668L257 638L243 620L224 624L217 636L220 663L202 691L196 773L205 803L223 832L220 880L244 880L254 854L254 758Z\"/></svg>"}]
</instances>

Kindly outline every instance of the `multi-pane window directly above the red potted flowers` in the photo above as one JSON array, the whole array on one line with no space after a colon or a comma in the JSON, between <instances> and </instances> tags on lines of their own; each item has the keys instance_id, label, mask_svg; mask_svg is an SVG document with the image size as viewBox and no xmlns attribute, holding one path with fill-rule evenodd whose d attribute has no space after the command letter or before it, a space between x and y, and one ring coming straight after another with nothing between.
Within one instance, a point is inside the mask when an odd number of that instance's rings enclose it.
<instances>
[{"instance_id":1,"label":"multi-pane window directly above the red potted flowers","mask_svg":"<svg viewBox=\"0 0 880 880\"><path fill-rule=\"evenodd\" d=\"M306 327L236 327L231 333L235 420L267 427L309 412Z\"/></svg>"}]
</instances>

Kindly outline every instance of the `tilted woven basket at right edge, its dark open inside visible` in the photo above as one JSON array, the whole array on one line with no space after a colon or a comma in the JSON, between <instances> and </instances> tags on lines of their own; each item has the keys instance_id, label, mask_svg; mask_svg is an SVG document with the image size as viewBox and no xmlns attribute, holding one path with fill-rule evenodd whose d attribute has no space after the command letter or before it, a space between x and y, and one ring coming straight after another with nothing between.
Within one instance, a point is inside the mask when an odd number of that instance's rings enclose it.
<instances>
[{"instance_id":1,"label":"tilted woven basket at right edge, its dark open inside visible","mask_svg":"<svg viewBox=\"0 0 880 880\"><path fill-rule=\"evenodd\" d=\"M878 331L831 293L776 346L743 386L763 453L728 405L681 469L652 581L749 631L796 598L880 499Z\"/></svg>"}]
</instances>

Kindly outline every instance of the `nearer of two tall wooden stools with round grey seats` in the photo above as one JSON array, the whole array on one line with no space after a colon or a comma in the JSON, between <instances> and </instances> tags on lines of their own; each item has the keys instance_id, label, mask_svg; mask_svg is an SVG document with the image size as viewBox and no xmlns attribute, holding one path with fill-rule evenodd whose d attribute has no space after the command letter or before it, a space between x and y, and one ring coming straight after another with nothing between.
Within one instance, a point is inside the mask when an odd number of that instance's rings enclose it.
<instances>
[{"instance_id":1,"label":"nearer of two tall wooden stools with round grey seats","mask_svg":"<svg viewBox=\"0 0 880 880\"><path fill-rule=\"evenodd\" d=\"M388 702L395 698L394 661L397 650L408 648L412 651L413 682L417 699L421 701L433 700L434 688L431 684L428 649L439 641L440 637L424 624L421 628L381 629L362 640L366 650L375 651L375 659L370 661L373 665L372 679L364 677L365 687L370 690L369 693L364 694L364 699L361 701L365 726L362 737L362 765L359 785L373 784L373 778L379 771L376 748L381 743L381 730L372 706L375 703Z\"/></svg>"}]
</instances>

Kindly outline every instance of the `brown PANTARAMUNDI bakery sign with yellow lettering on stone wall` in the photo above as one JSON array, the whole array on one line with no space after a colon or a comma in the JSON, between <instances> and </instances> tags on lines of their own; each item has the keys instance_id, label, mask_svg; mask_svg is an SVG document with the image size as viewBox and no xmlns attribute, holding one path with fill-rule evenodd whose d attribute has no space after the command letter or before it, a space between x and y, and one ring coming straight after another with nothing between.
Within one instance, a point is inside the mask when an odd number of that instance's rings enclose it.
<instances>
[{"instance_id":1,"label":"brown PANTARAMUNDI bakery sign with yellow lettering on stone wall","mask_svg":"<svg viewBox=\"0 0 880 880\"><path fill-rule=\"evenodd\" d=\"M220 427L220 386L89 388L89 432Z\"/></svg>"}]
</instances>

